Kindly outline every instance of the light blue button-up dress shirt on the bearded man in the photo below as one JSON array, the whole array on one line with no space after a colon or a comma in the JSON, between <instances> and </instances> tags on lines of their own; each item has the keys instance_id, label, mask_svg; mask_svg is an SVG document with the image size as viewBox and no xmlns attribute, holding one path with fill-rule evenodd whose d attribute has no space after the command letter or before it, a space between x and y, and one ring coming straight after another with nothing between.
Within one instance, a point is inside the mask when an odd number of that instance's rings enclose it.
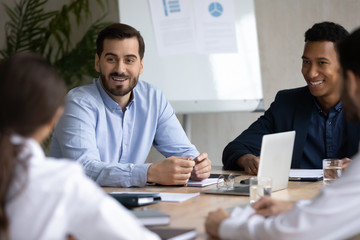
<instances>
[{"instance_id":1,"label":"light blue button-up dress shirt on the bearded man","mask_svg":"<svg viewBox=\"0 0 360 240\"><path fill-rule=\"evenodd\" d=\"M152 145L166 158L199 155L159 89L139 81L123 112L94 79L68 93L50 155L77 160L101 186L144 186Z\"/></svg>"}]
</instances>

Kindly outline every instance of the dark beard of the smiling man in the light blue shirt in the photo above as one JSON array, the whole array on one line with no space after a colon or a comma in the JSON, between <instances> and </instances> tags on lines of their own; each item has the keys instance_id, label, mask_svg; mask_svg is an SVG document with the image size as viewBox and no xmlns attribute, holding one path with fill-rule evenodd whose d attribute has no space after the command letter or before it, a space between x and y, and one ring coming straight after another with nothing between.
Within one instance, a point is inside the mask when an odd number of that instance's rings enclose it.
<instances>
[{"instance_id":1,"label":"dark beard of the smiling man in the light blue shirt","mask_svg":"<svg viewBox=\"0 0 360 240\"><path fill-rule=\"evenodd\" d=\"M126 77L129 79L129 86L125 87L123 85L120 86L114 86L114 87L110 87L109 82L112 81L111 77ZM139 76L137 77L133 77L131 78L128 75L125 74L118 74L118 73L110 73L108 80L106 79L105 75L103 73L100 72L100 81L102 83L102 86L104 87L105 91L107 93L112 94L113 96L118 96L118 97L122 97L127 95L128 93L130 93L134 87L136 86L137 82L138 82Z\"/></svg>"}]
</instances>

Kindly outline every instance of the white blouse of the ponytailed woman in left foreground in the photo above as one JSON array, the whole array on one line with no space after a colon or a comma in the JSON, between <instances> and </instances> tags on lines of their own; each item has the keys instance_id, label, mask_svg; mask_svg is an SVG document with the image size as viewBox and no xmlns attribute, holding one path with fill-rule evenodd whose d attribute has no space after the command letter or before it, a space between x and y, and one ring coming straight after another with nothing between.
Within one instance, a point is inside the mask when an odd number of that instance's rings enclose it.
<instances>
[{"instance_id":1,"label":"white blouse of the ponytailed woman in left foreground","mask_svg":"<svg viewBox=\"0 0 360 240\"><path fill-rule=\"evenodd\" d=\"M73 161L46 158L33 139L23 142L22 156L29 155L28 171L21 167L9 191L6 212L11 239L159 239L123 206L88 179ZM20 189L17 191L16 189Z\"/></svg>"}]
</instances>

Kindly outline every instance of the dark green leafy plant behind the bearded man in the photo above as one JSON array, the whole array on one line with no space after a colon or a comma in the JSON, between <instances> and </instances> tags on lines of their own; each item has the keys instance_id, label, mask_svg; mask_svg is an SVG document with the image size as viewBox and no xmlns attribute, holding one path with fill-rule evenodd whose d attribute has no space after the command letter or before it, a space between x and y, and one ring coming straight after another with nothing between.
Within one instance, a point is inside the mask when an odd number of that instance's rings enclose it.
<instances>
[{"instance_id":1,"label":"dark green leafy plant behind the bearded man","mask_svg":"<svg viewBox=\"0 0 360 240\"><path fill-rule=\"evenodd\" d=\"M54 3L54 2L53 2ZM89 0L72 0L59 10L47 11L49 0L20 0L13 8L3 4L9 21L5 23L5 47L0 58L19 51L33 51L51 62L64 78L68 89L89 81L94 70L95 41L98 32L109 23L91 20ZM96 0L103 10L103 0ZM77 43L74 33L84 32Z\"/></svg>"}]
</instances>

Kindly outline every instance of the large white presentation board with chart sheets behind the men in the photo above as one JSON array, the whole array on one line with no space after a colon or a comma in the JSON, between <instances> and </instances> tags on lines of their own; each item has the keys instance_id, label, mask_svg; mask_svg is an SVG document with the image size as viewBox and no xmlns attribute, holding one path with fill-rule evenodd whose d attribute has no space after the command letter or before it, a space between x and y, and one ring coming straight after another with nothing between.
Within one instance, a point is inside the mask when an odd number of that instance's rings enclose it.
<instances>
[{"instance_id":1,"label":"large white presentation board with chart sheets behind the men","mask_svg":"<svg viewBox=\"0 0 360 240\"><path fill-rule=\"evenodd\" d=\"M145 41L141 80L176 113L263 110L253 0L119 0Z\"/></svg>"}]
</instances>

